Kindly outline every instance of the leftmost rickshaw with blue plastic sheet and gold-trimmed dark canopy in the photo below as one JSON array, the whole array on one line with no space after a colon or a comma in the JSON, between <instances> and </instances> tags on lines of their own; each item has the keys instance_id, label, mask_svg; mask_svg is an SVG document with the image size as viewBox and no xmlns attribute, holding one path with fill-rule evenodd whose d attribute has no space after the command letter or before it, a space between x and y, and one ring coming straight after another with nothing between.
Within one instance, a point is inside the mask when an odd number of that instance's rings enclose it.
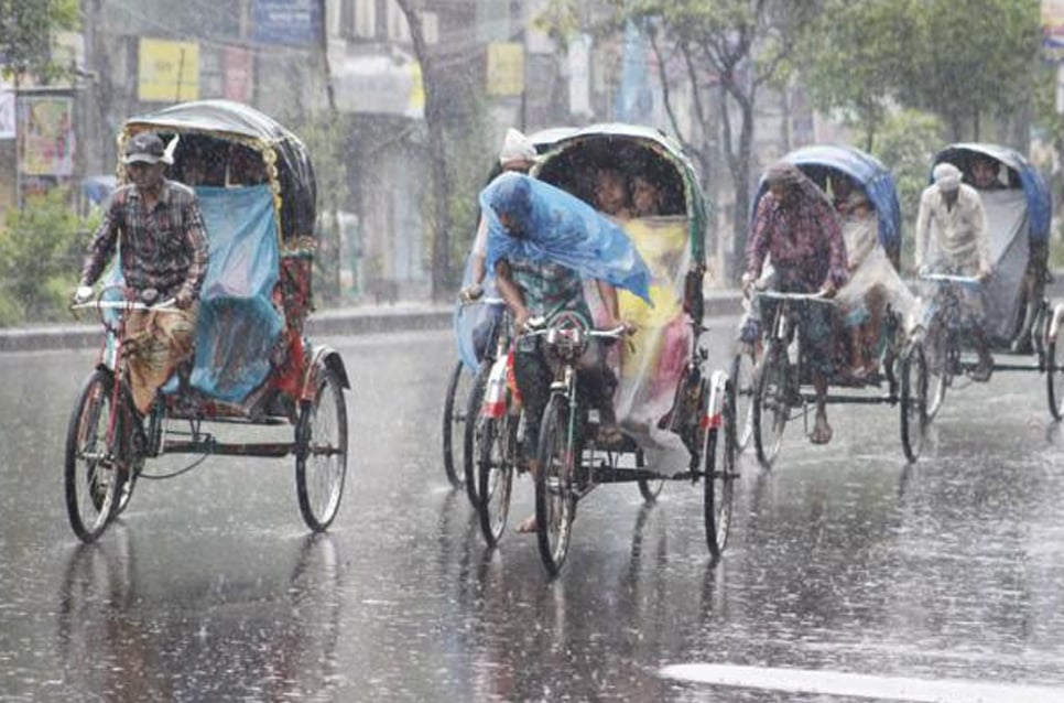
<instances>
[{"instance_id":1,"label":"leftmost rickshaw with blue plastic sheet and gold-trimmed dark canopy","mask_svg":"<svg viewBox=\"0 0 1064 703\"><path fill-rule=\"evenodd\" d=\"M122 354L130 300L116 264L97 299L99 358L74 407L66 441L65 490L70 526L95 540L130 500L139 478L165 478L208 455L295 458L300 511L313 531L339 508L347 471L340 355L304 336L311 312L315 234L314 171L291 131L250 107L226 100L183 102L129 119L118 136L156 132L167 144L167 177L196 191L207 228L209 267L200 291L194 360L140 418ZM126 174L119 169L119 182ZM78 306L76 306L78 307ZM164 309L165 304L158 307ZM222 442L220 425L286 428L274 442ZM200 455L165 475L145 459Z\"/></svg>"}]
</instances>

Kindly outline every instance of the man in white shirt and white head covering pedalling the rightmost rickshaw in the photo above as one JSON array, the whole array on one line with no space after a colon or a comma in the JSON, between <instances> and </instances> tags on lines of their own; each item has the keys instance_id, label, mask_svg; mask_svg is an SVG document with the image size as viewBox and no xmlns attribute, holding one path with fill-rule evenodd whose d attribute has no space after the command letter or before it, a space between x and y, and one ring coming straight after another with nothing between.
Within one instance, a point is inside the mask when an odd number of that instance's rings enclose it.
<instances>
[{"instance_id":1,"label":"man in white shirt and white head covering pedalling the rightmost rickshaw","mask_svg":"<svg viewBox=\"0 0 1064 703\"><path fill-rule=\"evenodd\" d=\"M991 272L990 232L979 194L960 182L960 170L940 163L932 171L934 183L920 196L916 216L916 270L986 280ZM967 329L976 342L979 365L974 380L988 380L994 368L986 334L982 295L978 290L957 286L956 310L947 310L947 324Z\"/></svg>"}]
</instances>

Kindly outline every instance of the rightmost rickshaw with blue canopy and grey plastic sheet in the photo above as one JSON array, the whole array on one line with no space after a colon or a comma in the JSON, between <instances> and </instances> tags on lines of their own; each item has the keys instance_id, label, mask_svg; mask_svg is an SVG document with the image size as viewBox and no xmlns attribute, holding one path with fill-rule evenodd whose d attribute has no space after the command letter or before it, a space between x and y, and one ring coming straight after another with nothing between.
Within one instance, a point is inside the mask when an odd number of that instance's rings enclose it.
<instances>
[{"instance_id":1,"label":"rightmost rickshaw with blue canopy and grey plastic sheet","mask_svg":"<svg viewBox=\"0 0 1064 703\"><path fill-rule=\"evenodd\" d=\"M1045 372L1046 394L1053 418L1064 418L1064 367L1056 342L1064 305L1052 306L1044 298L1049 278L1051 201L1039 171L1017 151L990 143L955 143L940 151L932 163L952 163L960 169L964 183L975 187L990 229L992 272L982 282L974 278L929 274L923 345L929 358L927 408L933 418L948 388L971 374L966 332L945 322L948 298L958 286L981 292L985 331L995 356L992 372ZM986 170L986 180L976 171ZM933 252L930 252L933 253ZM1024 360L1023 357L1028 357Z\"/></svg>"}]
</instances>

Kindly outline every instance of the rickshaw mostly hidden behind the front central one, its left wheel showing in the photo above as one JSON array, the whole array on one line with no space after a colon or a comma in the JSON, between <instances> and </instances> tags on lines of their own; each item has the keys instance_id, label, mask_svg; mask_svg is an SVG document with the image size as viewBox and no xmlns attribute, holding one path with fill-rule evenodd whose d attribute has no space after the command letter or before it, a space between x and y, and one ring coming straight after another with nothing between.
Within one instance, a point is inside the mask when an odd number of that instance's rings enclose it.
<instances>
[{"instance_id":1,"label":"rickshaw mostly hidden behind the front central one, its left wheel showing","mask_svg":"<svg viewBox=\"0 0 1064 703\"><path fill-rule=\"evenodd\" d=\"M543 153L561 137L573 131L572 128L556 127L538 131L529 139L536 151ZM490 183L501 171L496 160L485 183ZM471 282L470 260L467 259L463 288ZM479 451L477 411L495 361L493 353L499 346L498 335L508 334L506 305L490 274L484 281L484 295L476 301L459 300L455 304L453 327L458 361L447 380L443 412L444 472L452 486L465 489L474 507L478 502L474 467L474 457Z\"/></svg>"}]
</instances>

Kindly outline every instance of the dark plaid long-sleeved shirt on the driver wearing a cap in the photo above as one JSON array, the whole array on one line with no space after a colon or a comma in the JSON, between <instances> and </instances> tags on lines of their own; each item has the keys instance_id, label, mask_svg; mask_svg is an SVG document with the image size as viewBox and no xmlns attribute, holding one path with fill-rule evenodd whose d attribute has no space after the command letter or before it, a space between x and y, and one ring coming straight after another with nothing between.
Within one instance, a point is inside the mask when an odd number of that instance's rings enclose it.
<instances>
[{"instance_id":1,"label":"dark plaid long-sleeved shirt on the driver wearing a cap","mask_svg":"<svg viewBox=\"0 0 1064 703\"><path fill-rule=\"evenodd\" d=\"M199 296L207 272L207 236L192 188L163 180L150 210L134 185L115 192L93 236L82 284L91 285L121 246L122 275L134 290L154 288L161 298Z\"/></svg>"}]
</instances>

